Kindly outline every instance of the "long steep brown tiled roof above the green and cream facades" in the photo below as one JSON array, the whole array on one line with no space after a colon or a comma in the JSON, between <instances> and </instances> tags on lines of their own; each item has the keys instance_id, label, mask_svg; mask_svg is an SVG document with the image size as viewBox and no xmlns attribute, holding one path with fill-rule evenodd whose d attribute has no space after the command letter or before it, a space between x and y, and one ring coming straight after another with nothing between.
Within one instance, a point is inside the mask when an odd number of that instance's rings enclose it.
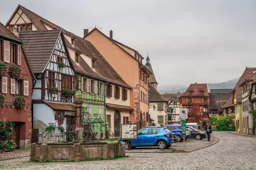
<instances>
[{"instance_id":1,"label":"long steep brown tiled roof above the green and cream facades","mask_svg":"<svg viewBox=\"0 0 256 170\"><path fill-rule=\"evenodd\" d=\"M97 59L95 62L96 70L107 79L109 82L125 86L127 88L132 88L129 86L119 74L114 70L114 68L107 62L107 60L99 53L99 51L94 47L92 43L83 38L64 30L64 33L75 37L74 46L81 51L82 54ZM74 49L76 50L76 49ZM88 70L86 70L88 72Z\"/></svg>"}]
</instances>

